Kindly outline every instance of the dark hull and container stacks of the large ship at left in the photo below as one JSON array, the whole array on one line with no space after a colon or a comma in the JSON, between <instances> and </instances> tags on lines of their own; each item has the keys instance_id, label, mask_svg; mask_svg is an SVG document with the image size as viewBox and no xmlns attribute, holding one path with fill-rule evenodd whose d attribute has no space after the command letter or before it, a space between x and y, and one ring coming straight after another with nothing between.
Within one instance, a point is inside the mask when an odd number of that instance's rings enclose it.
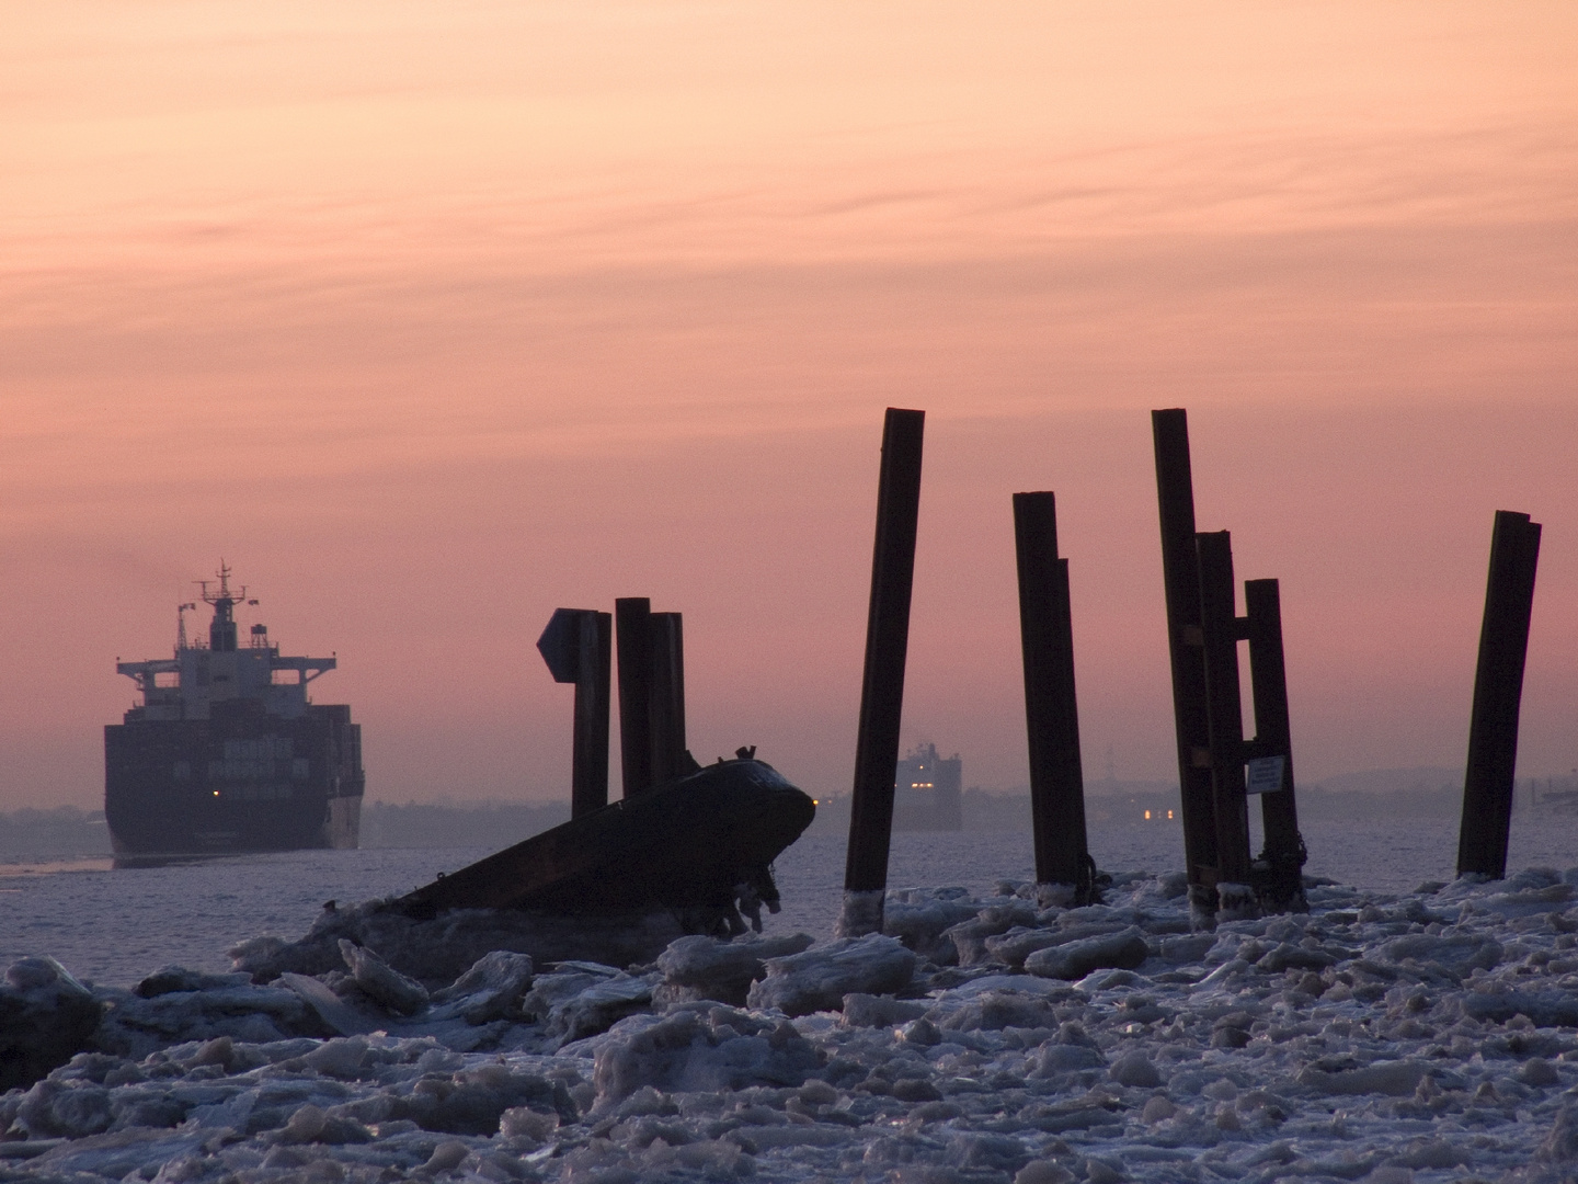
<instances>
[{"instance_id":1,"label":"dark hull and container stacks of the large ship at left","mask_svg":"<svg viewBox=\"0 0 1578 1184\"><path fill-rule=\"evenodd\" d=\"M117 862L355 848L361 729L350 709L297 718L246 701L207 720L104 729L104 816Z\"/></svg>"}]
</instances>

